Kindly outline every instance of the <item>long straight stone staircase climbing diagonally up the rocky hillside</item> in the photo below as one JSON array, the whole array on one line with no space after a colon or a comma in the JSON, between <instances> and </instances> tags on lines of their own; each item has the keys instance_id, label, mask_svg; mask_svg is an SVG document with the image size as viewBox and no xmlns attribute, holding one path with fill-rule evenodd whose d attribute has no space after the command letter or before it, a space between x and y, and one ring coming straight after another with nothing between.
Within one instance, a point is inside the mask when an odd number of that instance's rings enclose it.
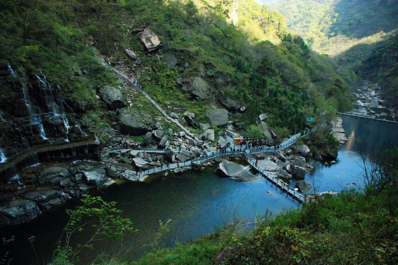
<instances>
[{"instance_id":1,"label":"long straight stone staircase climbing diagonally up the rocky hillside","mask_svg":"<svg viewBox=\"0 0 398 265\"><path fill-rule=\"evenodd\" d=\"M198 143L203 143L203 141L201 141L198 137L195 136L195 134L191 133L185 126L183 126L181 123L179 123L178 120L170 117L166 111L164 111L144 90L139 89L135 83L133 81L131 81L131 79L129 79L129 77L123 73L121 73L120 71L116 70L115 68L113 68L112 66L110 66L109 64L105 63L104 64L105 67L111 69L111 71L113 73L115 73L116 75L119 75L120 77L122 77L123 79L125 79L125 81L127 81L129 83L129 85L131 85L132 87L134 87L137 91L141 92L142 94L144 94L144 96L150 101L150 103L157 108L160 113L162 113L163 116L166 117L166 119L169 122L172 122L174 124L176 124L183 132L185 132L185 137L187 137L188 139L190 139L191 141L197 141ZM203 143L203 145L206 147L206 149L210 149L211 147L211 143L209 142L205 142Z\"/></svg>"}]
</instances>

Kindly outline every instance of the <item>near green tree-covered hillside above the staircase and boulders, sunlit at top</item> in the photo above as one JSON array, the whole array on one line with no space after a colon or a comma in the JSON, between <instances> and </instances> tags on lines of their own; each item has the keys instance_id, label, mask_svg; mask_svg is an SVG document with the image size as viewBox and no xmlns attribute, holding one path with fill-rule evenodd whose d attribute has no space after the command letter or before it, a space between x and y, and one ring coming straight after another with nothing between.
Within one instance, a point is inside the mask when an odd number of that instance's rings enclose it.
<instances>
[{"instance_id":1,"label":"near green tree-covered hillside above the staircase and boulders, sunlit at top","mask_svg":"<svg viewBox=\"0 0 398 265\"><path fill-rule=\"evenodd\" d=\"M14 0L1 2L0 8L1 62L18 72L41 71L70 101L87 103L86 111L100 110L96 85L117 82L98 54L141 74L123 48L135 50L141 65L149 66L140 80L156 101L164 106L178 102L197 114L198 122L208 121L205 113L218 104L220 92L246 106L243 116L230 119L239 118L246 127L266 113L281 135L303 129L307 116L351 106L355 74L312 52L289 31L283 15L254 0ZM141 50L131 33L140 25L158 35L161 52L174 54L177 67L169 69L158 56ZM84 75L71 79L70 69L79 67ZM199 100L175 81L195 76L207 89ZM1 104L10 97L2 97Z\"/></svg>"}]
</instances>

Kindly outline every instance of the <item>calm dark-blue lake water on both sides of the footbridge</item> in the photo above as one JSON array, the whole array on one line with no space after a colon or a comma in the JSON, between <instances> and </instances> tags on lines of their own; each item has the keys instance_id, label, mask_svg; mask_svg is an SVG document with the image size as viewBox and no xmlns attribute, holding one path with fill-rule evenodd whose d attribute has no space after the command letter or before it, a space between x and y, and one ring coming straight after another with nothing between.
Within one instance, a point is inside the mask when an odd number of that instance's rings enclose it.
<instances>
[{"instance_id":1,"label":"calm dark-blue lake water on both sides of the footbridge","mask_svg":"<svg viewBox=\"0 0 398 265\"><path fill-rule=\"evenodd\" d=\"M343 126L349 142L339 150L337 164L325 166L321 162L310 161L314 170L308 171L305 180L313 184L316 191L355 188L352 184L345 185L350 182L361 185L360 145L355 142L356 138L363 141L367 137L365 151L373 146L387 148L390 143L398 144L397 124L343 116ZM144 245L154 240L159 220L165 222L172 219L170 232L162 242L164 246L172 246L176 242L186 242L214 232L224 222L232 222L234 211L236 217L253 221L256 214L263 215L267 210L279 213L283 209L298 207L296 201L280 194L275 186L271 187L263 178L252 182L236 182L216 176L213 170L214 168L207 168L203 172L189 171L179 176L156 178L149 183L126 182L94 193L105 201L116 201L117 207L123 210L123 216L129 217L140 231L128 234L122 244L115 240L98 242L96 250L80 254L81 263L92 261L98 251L112 254L121 245L124 249L130 249L128 255L132 259L139 257L143 251L148 250L148 246ZM291 186L293 185L292 182ZM68 221L65 209L77 204L77 199L70 200L51 213L39 216L34 222L0 230L2 237L16 236L13 244L8 247L10 257L14 258L10 264L37 264L27 239L29 236L36 238L33 246L40 263L43 263L43 259L47 261ZM88 237L88 233L82 232L76 237L83 240Z\"/></svg>"}]
</instances>

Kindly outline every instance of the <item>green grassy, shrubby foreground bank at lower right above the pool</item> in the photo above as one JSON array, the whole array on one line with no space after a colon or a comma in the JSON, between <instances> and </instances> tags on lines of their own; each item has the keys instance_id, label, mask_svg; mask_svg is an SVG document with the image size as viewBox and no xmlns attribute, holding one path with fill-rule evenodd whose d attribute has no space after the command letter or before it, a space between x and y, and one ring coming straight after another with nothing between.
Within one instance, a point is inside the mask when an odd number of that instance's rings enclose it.
<instances>
[{"instance_id":1,"label":"green grassy, shrubby foreground bank at lower right above the pool","mask_svg":"<svg viewBox=\"0 0 398 265\"><path fill-rule=\"evenodd\" d=\"M396 264L397 215L384 198L344 191L262 221L249 234L222 229L133 264L213 264L227 246L233 249L222 264Z\"/></svg>"}]
</instances>

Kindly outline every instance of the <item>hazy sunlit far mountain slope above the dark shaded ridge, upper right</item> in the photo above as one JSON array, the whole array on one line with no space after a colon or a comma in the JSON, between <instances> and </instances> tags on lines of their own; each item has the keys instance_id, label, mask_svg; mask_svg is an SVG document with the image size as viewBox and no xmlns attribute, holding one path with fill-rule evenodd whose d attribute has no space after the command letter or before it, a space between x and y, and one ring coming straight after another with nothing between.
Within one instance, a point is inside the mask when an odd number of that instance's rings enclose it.
<instances>
[{"instance_id":1,"label":"hazy sunlit far mountain slope above the dark shaded ridge, upper right","mask_svg":"<svg viewBox=\"0 0 398 265\"><path fill-rule=\"evenodd\" d=\"M332 57L358 44L369 54L367 46L385 40L398 28L396 0L287 0L271 2L269 7L279 10L288 27L312 49Z\"/></svg>"}]
</instances>

